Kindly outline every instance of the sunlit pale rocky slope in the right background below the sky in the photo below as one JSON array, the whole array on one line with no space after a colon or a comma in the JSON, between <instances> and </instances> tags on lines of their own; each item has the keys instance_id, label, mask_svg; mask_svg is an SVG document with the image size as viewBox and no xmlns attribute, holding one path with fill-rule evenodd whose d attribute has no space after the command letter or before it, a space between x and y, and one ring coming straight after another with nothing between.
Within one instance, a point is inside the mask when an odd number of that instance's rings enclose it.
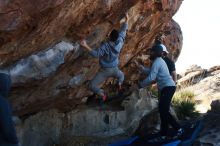
<instances>
[{"instance_id":1,"label":"sunlit pale rocky slope in the right background below the sky","mask_svg":"<svg viewBox=\"0 0 220 146\"><path fill-rule=\"evenodd\" d=\"M178 82L183 90L195 94L197 110L202 113L211 108L212 101L220 99L220 66L208 70L192 66Z\"/></svg>"}]
</instances>

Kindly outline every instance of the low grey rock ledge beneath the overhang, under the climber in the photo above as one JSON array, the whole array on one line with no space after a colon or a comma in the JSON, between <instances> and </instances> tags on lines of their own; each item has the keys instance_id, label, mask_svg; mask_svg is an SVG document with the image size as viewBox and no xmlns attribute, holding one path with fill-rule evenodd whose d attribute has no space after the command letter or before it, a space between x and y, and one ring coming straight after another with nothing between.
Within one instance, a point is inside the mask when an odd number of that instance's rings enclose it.
<instances>
[{"instance_id":1,"label":"low grey rock ledge beneath the overhang, under the climber","mask_svg":"<svg viewBox=\"0 0 220 146\"><path fill-rule=\"evenodd\" d=\"M17 126L20 142L22 146L107 145L120 135L133 134L140 120L155 111L157 99L142 89L123 101L122 106L123 110L116 111L104 107L100 111L93 107L68 113L58 110L39 112ZM158 121L157 112L149 117ZM151 123L151 126L157 124Z\"/></svg>"}]
</instances>

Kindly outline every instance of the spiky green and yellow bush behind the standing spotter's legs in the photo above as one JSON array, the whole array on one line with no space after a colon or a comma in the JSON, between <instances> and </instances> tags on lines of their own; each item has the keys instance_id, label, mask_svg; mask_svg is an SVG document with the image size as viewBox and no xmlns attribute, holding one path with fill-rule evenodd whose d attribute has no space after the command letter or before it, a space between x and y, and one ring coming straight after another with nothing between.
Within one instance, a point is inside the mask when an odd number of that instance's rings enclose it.
<instances>
[{"instance_id":1,"label":"spiky green and yellow bush behind the standing spotter's legs","mask_svg":"<svg viewBox=\"0 0 220 146\"><path fill-rule=\"evenodd\" d=\"M176 92L173 97L173 106L180 120L196 118L199 113L195 110L194 93L190 91Z\"/></svg>"}]
</instances>

